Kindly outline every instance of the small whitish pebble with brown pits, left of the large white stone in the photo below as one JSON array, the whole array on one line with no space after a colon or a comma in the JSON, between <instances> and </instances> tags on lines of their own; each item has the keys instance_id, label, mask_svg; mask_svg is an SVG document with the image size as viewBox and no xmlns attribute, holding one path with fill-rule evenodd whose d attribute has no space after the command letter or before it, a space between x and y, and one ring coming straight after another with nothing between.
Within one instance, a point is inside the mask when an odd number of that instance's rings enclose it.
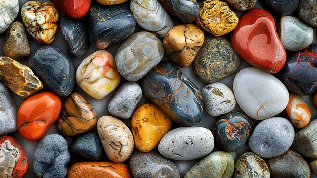
<instances>
[{"instance_id":1,"label":"small whitish pebble with brown pits, left of the large white stone","mask_svg":"<svg viewBox=\"0 0 317 178\"><path fill-rule=\"evenodd\" d=\"M205 110L212 116L220 116L232 111L236 103L231 89L220 82L204 86L202 97Z\"/></svg>"}]
</instances>

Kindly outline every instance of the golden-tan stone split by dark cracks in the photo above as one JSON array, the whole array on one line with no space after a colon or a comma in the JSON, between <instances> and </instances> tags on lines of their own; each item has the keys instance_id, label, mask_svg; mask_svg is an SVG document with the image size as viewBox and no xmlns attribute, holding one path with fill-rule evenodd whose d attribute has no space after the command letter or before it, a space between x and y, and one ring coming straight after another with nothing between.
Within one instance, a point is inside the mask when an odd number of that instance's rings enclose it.
<instances>
[{"instance_id":1,"label":"golden-tan stone split by dark cracks","mask_svg":"<svg viewBox=\"0 0 317 178\"><path fill-rule=\"evenodd\" d=\"M204 32L197 25L184 24L171 28L163 40L164 51L180 67L187 67L204 43Z\"/></svg>"}]
</instances>

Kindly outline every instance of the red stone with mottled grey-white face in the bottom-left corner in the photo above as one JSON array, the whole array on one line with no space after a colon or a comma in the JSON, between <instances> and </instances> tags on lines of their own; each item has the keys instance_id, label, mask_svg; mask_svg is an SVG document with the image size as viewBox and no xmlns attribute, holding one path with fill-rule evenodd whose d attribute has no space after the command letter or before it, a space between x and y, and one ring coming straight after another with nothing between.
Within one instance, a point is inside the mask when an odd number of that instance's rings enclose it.
<instances>
[{"instance_id":1,"label":"red stone with mottled grey-white face in the bottom-left corner","mask_svg":"<svg viewBox=\"0 0 317 178\"><path fill-rule=\"evenodd\" d=\"M9 135L0 136L0 153L0 177L22 178L28 162L19 141Z\"/></svg>"}]
</instances>

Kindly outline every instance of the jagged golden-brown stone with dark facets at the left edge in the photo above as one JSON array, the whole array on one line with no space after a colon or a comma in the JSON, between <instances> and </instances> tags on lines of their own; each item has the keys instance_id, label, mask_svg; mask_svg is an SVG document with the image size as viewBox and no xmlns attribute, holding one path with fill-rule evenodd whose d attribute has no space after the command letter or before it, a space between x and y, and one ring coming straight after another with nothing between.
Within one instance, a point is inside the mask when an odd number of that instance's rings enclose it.
<instances>
[{"instance_id":1,"label":"jagged golden-brown stone with dark facets at the left edge","mask_svg":"<svg viewBox=\"0 0 317 178\"><path fill-rule=\"evenodd\" d=\"M28 66L9 57L0 57L0 81L23 98L43 88L41 81Z\"/></svg>"}]
</instances>

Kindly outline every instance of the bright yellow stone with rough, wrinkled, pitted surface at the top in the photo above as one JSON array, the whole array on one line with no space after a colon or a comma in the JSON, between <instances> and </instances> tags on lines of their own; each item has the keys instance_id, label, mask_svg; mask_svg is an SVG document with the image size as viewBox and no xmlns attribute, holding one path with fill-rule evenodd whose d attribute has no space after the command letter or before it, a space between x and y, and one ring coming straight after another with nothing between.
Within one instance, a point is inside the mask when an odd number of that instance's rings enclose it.
<instances>
[{"instance_id":1,"label":"bright yellow stone with rough, wrinkled, pitted surface at the top","mask_svg":"<svg viewBox=\"0 0 317 178\"><path fill-rule=\"evenodd\" d=\"M199 11L196 23L218 37L234 30L238 18L226 2L206 0Z\"/></svg>"}]
</instances>

